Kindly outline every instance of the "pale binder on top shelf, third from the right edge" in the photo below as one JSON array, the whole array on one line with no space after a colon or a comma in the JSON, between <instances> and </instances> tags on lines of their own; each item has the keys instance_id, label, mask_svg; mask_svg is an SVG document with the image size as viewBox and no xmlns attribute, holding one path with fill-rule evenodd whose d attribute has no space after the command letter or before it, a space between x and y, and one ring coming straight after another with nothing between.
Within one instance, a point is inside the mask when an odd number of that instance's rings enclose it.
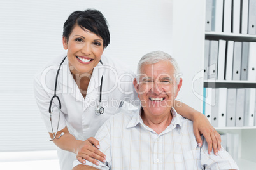
<instances>
[{"instance_id":1,"label":"pale binder on top shelf, third from the right edge","mask_svg":"<svg viewBox=\"0 0 256 170\"><path fill-rule=\"evenodd\" d=\"M233 1L232 32L235 34L240 33L240 8L241 8L241 1L238 1L238 0Z\"/></svg>"}]
</instances>

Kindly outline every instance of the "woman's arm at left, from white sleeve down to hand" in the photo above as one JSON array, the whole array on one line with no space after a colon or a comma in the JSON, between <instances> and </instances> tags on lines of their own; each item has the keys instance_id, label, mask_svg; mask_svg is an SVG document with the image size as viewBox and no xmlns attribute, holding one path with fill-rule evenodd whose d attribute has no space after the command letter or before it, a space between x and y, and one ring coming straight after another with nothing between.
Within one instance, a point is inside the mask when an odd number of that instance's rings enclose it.
<instances>
[{"instance_id":1,"label":"woman's arm at left, from white sleeve down to hand","mask_svg":"<svg viewBox=\"0 0 256 170\"><path fill-rule=\"evenodd\" d=\"M51 131L50 120L49 120L50 115L48 113L48 108L49 108L50 99L51 99L50 97L52 96L52 93L48 92L50 93L49 95L46 92L46 86L45 88L43 88L40 78L41 76L36 77L34 79L34 96L36 98L36 103L38 105L38 108L41 112L41 117L43 121L45 121L46 128L48 129L51 138L53 138L53 134L50 133ZM58 115L53 115L53 120L58 120L58 117L56 116ZM66 127L65 124L66 123L65 123L64 115L60 115L59 127L61 127L60 129L62 130L57 132L56 137L58 138L62 132L64 132L64 135L61 136L59 139L53 140L53 143L55 143L57 147L61 148L62 150L67 150L69 152L75 153L77 159L81 163L85 162L85 160L88 160L94 164L99 163L99 161L104 161L105 155L98 150L99 141L97 141L94 138L88 138L85 141L76 140L76 138L69 133L68 128ZM99 161L97 161L96 159Z\"/></svg>"}]
</instances>

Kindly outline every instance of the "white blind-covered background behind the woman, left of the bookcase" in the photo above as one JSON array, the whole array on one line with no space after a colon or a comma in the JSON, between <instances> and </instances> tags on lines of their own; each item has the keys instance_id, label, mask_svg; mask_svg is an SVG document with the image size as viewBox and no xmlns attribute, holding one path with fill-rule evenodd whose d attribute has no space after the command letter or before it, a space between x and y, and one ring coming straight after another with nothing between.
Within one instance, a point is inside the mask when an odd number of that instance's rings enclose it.
<instances>
[{"instance_id":1,"label":"white blind-covered background behind the woman, left of the bookcase","mask_svg":"<svg viewBox=\"0 0 256 170\"><path fill-rule=\"evenodd\" d=\"M172 53L172 1L1 1L0 152L54 149L46 141L32 80L39 68L64 51L66 18L86 8L100 10L110 25L111 44L104 55L126 62L132 70L145 53Z\"/></svg>"}]
</instances>

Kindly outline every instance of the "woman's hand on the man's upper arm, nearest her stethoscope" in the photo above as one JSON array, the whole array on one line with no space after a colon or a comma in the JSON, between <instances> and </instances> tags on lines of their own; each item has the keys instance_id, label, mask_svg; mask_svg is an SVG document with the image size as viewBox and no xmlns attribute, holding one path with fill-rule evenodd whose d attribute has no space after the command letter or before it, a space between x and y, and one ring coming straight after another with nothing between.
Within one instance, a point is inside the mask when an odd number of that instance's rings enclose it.
<instances>
[{"instance_id":1,"label":"woman's hand on the man's upper arm, nearest her stethoscope","mask_svg":"<svg viewBox=\"0 0 256 170\"><path fill-rule=\"evenodd\" d=\"M85 164L85 160L95 165L99 165L99 161L106 162L106 155L99 151L99 147L99 141L95 138L90 137L82 141L76 151L76 159L82 164Z\"/></svg>"}]
</instances>

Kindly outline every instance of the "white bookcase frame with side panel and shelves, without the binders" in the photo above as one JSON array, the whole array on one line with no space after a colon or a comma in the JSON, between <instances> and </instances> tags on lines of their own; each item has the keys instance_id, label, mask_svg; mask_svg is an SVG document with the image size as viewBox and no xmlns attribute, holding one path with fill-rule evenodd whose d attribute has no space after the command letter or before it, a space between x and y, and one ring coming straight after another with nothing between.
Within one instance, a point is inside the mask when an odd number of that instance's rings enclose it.
<instances>
[{"instance_id":1,"label":"white bookcase frame with side panel and shelves, without the binders","mask_svg":"<svg viewBox=\"0 0 256 170\"><path fill-rule=\"evenodd\" d=\"M182 101L200 112L203 110L203 88L256 88L256 81L220 81L204 80L204 40L256 42L255 35L234 34L205 31L206 1L173 0L173 53L181 72L183 71L183 87L180 91ZM203 17L202 17L203 16ZM198 75L198 76L197 76ZM194 81L195 77L196 81ZM194 87L199 87L194 89ZM184 95L182 94L184 89ZM188 91L190 89L193 91ZM180 94L179 94L180 95ZM200 107L200 108L199 108ZM238 159L239 169L255 169L256 167L256 127L224 127L216 128L219 133L239 135Z\"/></svg>"}]
</instances>

